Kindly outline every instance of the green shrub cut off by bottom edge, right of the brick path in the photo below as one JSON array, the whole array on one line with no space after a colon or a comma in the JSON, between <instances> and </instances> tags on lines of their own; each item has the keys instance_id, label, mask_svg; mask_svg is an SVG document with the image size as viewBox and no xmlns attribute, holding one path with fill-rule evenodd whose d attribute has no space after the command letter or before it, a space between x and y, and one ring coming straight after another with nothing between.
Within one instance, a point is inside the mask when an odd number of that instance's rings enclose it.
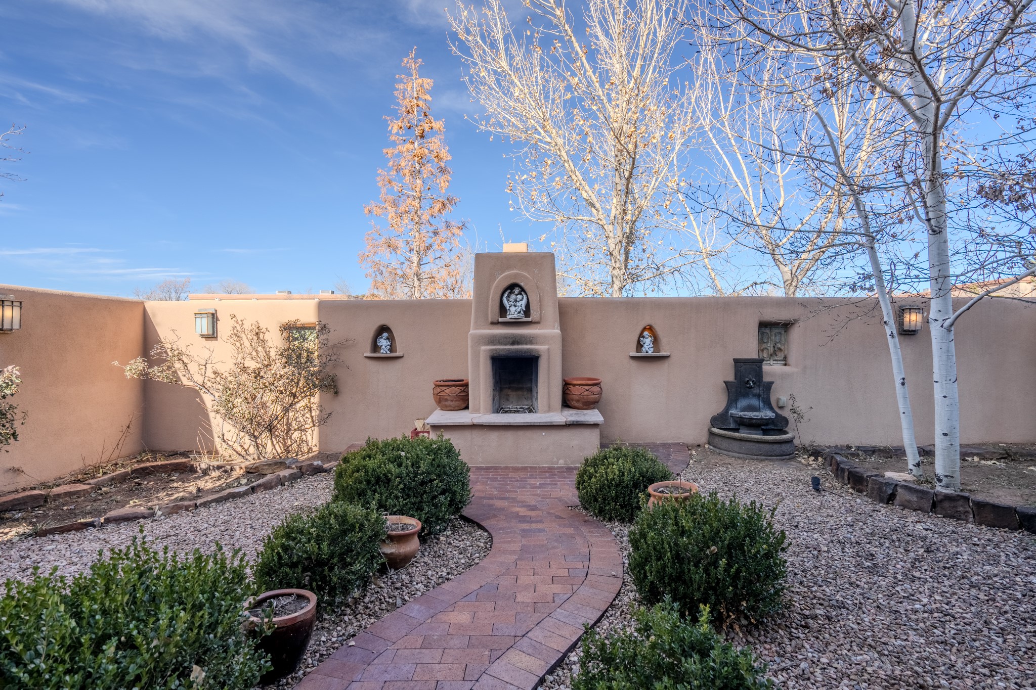
<instances>
[{"instance_id":1,"label":"green shrub cut off by bottom edge, right of the brick path","mask_svg":"<svg viewBox=\"0 0 1036 690\"><path fill-rule=\"evenodd\" d=\"M766 664L736 649L709 625L702 606L696 625L681 620L671 601L634 613L633 632L586 633L572 690L762 690Z\"/></svg>"}]
</instances>

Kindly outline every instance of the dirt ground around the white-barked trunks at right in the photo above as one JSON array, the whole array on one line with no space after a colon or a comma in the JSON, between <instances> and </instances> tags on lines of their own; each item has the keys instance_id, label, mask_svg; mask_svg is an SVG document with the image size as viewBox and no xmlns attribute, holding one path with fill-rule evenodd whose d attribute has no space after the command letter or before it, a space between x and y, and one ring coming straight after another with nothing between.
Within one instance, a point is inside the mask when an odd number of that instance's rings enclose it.
<instances>
[{"instance_id":1,"label":"dirt ground around the white-barked trunks at right","mask_svg":"<svg viewBox=\"0 0 1036 690\"><path fill-rule=\"evenodd\" d=\"M905 455L848 452L845 456L874 472L906 472ZM921 457L926 481L936 486L936 458ZM1009 506L1036 506L1036 446L983 446L960 454L960 490Z\"/></svg>"}]
</instances>

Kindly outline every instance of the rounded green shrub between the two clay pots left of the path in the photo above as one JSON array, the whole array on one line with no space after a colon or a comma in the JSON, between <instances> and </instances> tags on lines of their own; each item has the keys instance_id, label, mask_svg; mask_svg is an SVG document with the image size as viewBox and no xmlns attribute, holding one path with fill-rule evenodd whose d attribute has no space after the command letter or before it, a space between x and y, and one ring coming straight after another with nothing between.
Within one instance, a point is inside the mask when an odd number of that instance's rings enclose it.
<instances>
[{"instance_id":1,"label":"rounded green shrub between the two clay pots left of the path","mask_svg":"<svg viewBox=\"0 0 1036 690\"><path fill-rule=\"evenodd\" d=\"M261 590L312 590L335 605L367 582L381 565L385 520L376 510L327 503L289 515L263 540L255 565Z\"/></svg>"}]
</instances>

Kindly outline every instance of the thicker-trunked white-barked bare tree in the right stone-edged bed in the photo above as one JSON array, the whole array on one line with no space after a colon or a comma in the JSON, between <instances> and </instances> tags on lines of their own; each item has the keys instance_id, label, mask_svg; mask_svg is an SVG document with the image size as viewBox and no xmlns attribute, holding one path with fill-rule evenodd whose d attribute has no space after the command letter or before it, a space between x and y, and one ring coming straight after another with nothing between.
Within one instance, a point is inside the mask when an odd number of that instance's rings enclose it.
<instances>
[{"instance_id":1,"label":"thicker-trunked white-barked bare tree in the right stone-edged bed","mask_svg":"<svg viewBox=\"0 0 1036 690\"><path fill-rule=\"evenodd\" d=\"M1036 77L1032 3L723 0L716 5L715 26L726 29L727 38L780 60L806 57L800 64L811 63L821 79L847 76L880 94L896 124L888 130L898 152L890 161L891 174L926 238L936 482L944 490L960 488L953 327L982 298L1036 273L1027 229L987 224L975 213L985 203L998 203L1005 188L1015 208L1031 205L1034 198L1031 176L1027 181L1017 174L1033 158L1028 139ZM1011 126L982 141L977 125L999 126L989 123L1005 114ZM953 284L968 272L1014 277L954 309Z\"/></svg>"}]
</instances>

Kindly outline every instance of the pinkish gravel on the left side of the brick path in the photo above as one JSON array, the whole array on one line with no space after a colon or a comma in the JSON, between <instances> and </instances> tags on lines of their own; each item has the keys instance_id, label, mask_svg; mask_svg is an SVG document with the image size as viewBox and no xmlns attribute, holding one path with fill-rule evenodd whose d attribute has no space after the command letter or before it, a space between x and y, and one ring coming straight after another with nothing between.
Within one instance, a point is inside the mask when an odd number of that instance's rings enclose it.
<instances>
[{"instance_id":1,"label":"pinkish gravel on the left side of the brick path","mask_svg":"<svg viewBox=\"0 0 1036 690\"><path fill-rule=\"evenodd\" d=\"M239 548L253 558L262 538L285 516L326 503L333 482L332 474L315 475L272 491L169 517L0 542L0 580L27 579L37 566L41 572L56 567L60 574L75 574L89 567L98 550L128 544L140 534L140 527L156 548L189 552L197 547L210 552L219 542L226 549ZM374 621L479 563L491 543L485 530L455 518L444 533L422 540L421 550L407 567L380 573L342 609L320 610L299 670L269 687L293 686Z\"/></svg>"}]
</instances>

